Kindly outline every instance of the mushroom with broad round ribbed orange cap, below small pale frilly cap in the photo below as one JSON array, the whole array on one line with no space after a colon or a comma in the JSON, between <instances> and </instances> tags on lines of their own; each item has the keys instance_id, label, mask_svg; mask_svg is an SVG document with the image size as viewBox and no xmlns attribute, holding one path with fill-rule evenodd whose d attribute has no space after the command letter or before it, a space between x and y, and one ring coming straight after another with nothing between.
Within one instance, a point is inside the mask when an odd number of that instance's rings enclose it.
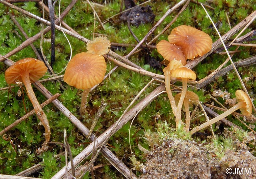
<instances>
[{"instance_id":1,"label":"mushroom with broad round ribbed orange cap, below small pale frilly cap","mask_svg":"<svg viewBox=\"0 0 256 179\"><path fill-rule=\"evenodd\" d=\"M63 80L76 88L84 89L80 114L85 113L87 96L91 87L101 83L106 73L105 58L99 54L78 53L67 65Z\"/></svg>"}]
</instances>

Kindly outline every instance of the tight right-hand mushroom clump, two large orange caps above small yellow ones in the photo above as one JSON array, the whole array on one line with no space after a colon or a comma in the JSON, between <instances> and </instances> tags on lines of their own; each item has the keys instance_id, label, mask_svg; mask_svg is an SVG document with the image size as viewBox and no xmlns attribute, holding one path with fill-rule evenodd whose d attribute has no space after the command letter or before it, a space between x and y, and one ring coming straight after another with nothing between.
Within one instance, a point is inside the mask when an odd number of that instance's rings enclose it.
<instances>
[{"instance_id":1,"label":"tight right-hand mushroom clump, two large orange caps above small yellow ones","mask_svg":"<svg viewBox=\"0 0 256 179\"><path fill-rule=\"evenodd\" d=\"M181 120L181 108L187 94L187 80L196 79L196 74L191 69L185 68L187 59L193 60L197 56L202 56L211 50L212 39L203 31L197 30L190 26L178 26L174 28L168 36L168 41L162 40L157 44L157 51L163 58L169 61L166 68L163 69L165 74L165 87L173 109L173 114L176 117L176 128L183 124ZM179 97L179 102L176 105L170 89L170 77L182 79L182 92ZM185 104L186 103L186 104ZM189 130L190 115L188 110L187 100L186 106L186 130ZM188 119L189 118L189 119Z\"/></svg>"}]
</instances>

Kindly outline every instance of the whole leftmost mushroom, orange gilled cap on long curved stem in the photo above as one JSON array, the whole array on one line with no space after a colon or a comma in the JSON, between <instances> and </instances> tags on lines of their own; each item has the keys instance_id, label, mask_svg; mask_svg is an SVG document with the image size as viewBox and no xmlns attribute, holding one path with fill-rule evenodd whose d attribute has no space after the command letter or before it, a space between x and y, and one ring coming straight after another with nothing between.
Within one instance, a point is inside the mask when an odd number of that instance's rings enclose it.
<instances>
[{"instance_id":1,"label":"whole leftmost mushroom, orange gilled cap on long curved stem","mask_svg":"<svg viewBox=\"0 0 256 179\"><path fill-rule=\"evenodd\" d=\"M42 110L37 98L35 97L31 83L44 76L47 68L44 62L35 58L24 58L17 61L5 71L5 80L8 84L15 84L15 81L22 81L26 87L27 95L35 109L35 114L40 119L45 128L45 142L42 150L47 149L46 145L50 140L50 126L44 111Z\"/></svg>"}]
</instances>

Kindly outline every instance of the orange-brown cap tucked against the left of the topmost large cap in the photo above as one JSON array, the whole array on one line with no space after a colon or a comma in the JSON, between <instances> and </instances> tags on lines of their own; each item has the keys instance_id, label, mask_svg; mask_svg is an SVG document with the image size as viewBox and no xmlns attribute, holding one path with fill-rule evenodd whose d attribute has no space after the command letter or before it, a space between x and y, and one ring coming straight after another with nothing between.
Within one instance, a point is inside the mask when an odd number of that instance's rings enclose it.
<instances>
[{"instance_id":1,"label":"orange-brown cap tucked against the left of the topmost large cap","mask_svg":"<svg viewBox=\"0 0 256 179\"><path fill-rule=\"evenodd\" d=\"M160 53L163 58L168 61L177 60L182 63L182 65L187 64L185 56L181 50L180 46L173 45L168 41L162 40L157 44L157 52Z\"/></svg>"}]
</instances>

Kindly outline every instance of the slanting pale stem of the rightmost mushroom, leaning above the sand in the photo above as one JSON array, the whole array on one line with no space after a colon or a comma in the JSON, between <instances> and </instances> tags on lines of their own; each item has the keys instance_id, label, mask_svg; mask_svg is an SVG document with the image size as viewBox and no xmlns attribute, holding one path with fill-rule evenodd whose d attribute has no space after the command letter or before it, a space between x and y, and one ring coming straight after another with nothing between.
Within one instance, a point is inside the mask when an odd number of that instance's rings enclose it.
<instances>
[{"instance_id":1,"label":"slanting pale stem of the rightmost mushroom, leaning above the sand","mask_svg":"<svg viewBox=\"0 0 256 179\"><path fill-rule=\"evenodd\" d=\"M207 121L207 122L201 124L200 126L196 126L194 129L192 129L190 131L190 134L192 135L193 133L204 129L205 127L208 127L208 126L214 124L215 122L218 122L219 120L227 117L229 114L232 114L234 111L240 109L241 107L244 107L244 105L245 105L244 102L237 103L235 106L233 106L229 110L225 111L225 113L222 113L222 114L218 115L217 117L211 119L210 121Z\"/></svg>"}]
</instances>

